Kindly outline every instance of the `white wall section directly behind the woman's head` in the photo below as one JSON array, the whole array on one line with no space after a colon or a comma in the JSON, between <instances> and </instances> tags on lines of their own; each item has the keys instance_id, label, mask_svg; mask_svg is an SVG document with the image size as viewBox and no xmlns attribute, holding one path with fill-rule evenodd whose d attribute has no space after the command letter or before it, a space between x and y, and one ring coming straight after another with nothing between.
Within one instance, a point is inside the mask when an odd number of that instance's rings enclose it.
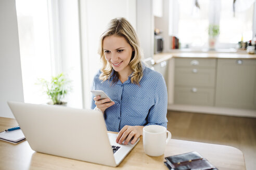
<instances>
[{"instance_id":1,"label":"white wall section directly behind the woman's head","mask_svg":"<svg viewBox=\"0 0 256 170\"><path fill-rule=\"evenodd\" d=\"M81 52L84 84L84 107L91 106L91 83L100 68L99 37L108 22L124 17L136 29L136 0L80 0Z\"/></svg>"}]
</instances>

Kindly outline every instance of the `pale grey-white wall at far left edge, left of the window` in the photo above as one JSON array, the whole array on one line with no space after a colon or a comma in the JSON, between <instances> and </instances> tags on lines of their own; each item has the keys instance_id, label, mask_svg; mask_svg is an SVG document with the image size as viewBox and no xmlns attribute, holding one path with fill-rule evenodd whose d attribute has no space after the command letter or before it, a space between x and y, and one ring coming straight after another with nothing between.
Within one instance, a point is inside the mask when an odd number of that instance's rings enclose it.
<instances>
[{"instance_id":1,"label":"pale grey-white wall at far left edge, left of the window","mask_svg":"<svg viewBox=\"0 0 256 170\"><path fill-rule=\"evenodd\" d=\"M7 101L24 101L15 0L0 1L0 117L14 118Z\"/></svg>"}]
</instances>

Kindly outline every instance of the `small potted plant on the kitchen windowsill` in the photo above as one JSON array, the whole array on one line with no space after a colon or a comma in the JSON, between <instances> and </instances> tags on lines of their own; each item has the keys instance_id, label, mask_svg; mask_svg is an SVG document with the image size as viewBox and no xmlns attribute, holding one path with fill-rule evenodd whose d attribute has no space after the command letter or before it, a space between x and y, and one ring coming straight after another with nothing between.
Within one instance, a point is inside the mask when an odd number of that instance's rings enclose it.
<instances>
[{"instance_id":1,"label":"small potted plant on the kitchen windowsill","mask_svg":"<svg viewBox=\"0 0 256 170\"><path fill-rule=\"evenodd\" d=\"M208 30L209 48L210 49L215 49L217 36L219 36L219 34L220 34L220 26L219 25L210 24L209 25L209 30Z\"/></svg>"}]
</instances>

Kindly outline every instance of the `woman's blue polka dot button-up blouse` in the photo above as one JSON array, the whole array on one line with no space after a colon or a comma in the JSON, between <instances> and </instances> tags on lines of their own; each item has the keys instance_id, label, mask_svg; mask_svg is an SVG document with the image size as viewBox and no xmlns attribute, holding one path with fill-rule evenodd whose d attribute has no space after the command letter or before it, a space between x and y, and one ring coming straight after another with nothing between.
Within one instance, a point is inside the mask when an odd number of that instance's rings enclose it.
<instances>
[{"instance_id":1,"label":"woman's blue polka dot button-up blouse","mask_svg":"<svg viewBox=\"0 0 256 170\"><path fill-rule=\"evenodd\" d=\"M143 64L143 78L137 84L131 77L122 83L111 84L99 79L100 71L93 80L93 90L103 90L114 105L105 110L107 130L119 132L125 125L158 124L167 127L167 87L163 76ZM92 95L91 108L96 107Z\"/></svg>"}]
</instances>

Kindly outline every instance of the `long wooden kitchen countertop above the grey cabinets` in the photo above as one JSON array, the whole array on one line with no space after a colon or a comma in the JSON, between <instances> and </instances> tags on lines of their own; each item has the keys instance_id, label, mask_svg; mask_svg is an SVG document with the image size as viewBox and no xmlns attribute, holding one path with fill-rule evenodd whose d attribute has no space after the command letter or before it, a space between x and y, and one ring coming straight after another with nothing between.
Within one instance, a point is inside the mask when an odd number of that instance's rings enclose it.
<instances>
[{"instance_id":1,"label":"long wooden kitchen countertop above the grey cabinets","mask_svg":"<svg viewBox=\"0 0 256 170\"><path fill-rule=\"evenodd\" d=\"M161 63L171 58L221 58L221 59L256 59L256 54L236 52L168 52L153 55L155 63Z\"/></svg>"}]
</instances>

